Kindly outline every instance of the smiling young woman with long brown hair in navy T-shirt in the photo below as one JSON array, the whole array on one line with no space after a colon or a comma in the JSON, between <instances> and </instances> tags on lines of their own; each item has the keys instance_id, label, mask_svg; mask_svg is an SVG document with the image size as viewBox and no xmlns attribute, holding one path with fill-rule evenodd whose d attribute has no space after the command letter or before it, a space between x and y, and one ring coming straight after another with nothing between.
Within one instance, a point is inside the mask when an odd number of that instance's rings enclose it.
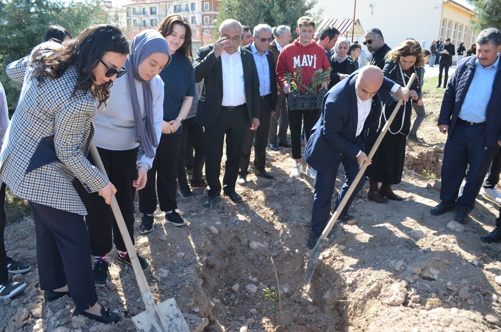
<instances>
[{"instance_id":1,"label":"smiling young woman with long brown hair in navy T-shirt","mask_svg":"<svg viewBox=\"0 0 501 332\"><path fill-rule=\"evenodd\" d=\"M177 227L187 224L187 221L176 211L176 195L177 160L181 134L185 129L183 123L195 95L195 75L190 60L192 58L191 27L188 21L179 14L171 14L160 23L158 31L169 43L172 63L160 73L160 77L165 83L163 121L161 121L162 136L153 167L148 174L150 179L155 179L156 175L157 190L155 192L155 181L148 181L146 187L139 191L139 211L143 213L139 226L141 233L153 230L153 212L157 207L157 193L160 210L165 212L164 222ZM189 122L192 121L193 119L190 119ZM203 136L200 133L202 128L194 127L193 129L198 131L196 137L191 140L193 146L203 144ZM198 168L193 170L192 185L200 186L202 184L202 167L203 164L198 164ZM203 182L203 184L205 183ZM180 186L183 184L181 183Z\"/></svg>"}]
</instances>

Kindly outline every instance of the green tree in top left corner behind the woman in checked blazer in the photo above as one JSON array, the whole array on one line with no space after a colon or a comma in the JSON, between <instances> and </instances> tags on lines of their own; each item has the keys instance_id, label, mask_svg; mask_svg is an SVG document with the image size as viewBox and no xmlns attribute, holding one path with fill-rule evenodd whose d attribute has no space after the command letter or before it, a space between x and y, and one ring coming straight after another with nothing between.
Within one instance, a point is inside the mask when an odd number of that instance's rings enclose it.
<instances>
[{"instance_id":1,"label":"green tree in top left corner behind the woman in checked blazer","mask_svg":"<svg viewBox=\"0 0 501 332\"><path fill-rule=\"evenodd\" d=\"M9 112L16 109L21 85L5 73L6 66L44 41L50 25L59 25L76 37L102 21L100 0L65 4L53 0L0 0L0 82L6 90Z\"/></svg>"}]
</instances>

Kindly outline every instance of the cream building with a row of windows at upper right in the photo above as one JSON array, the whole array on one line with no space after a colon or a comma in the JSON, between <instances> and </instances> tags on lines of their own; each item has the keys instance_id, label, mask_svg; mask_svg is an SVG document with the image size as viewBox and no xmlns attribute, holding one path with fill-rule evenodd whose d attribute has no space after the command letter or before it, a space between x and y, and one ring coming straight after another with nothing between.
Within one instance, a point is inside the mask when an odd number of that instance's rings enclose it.
<instances>
[{"instance_id":1,"label":"cream building with a row of windows at upper right","mask_svg":"<svg viewBox=\"0 0 501 332\"><path fill-rule=\"evenodd\" d=\"M352 18L354 1L319 0L324 17ZM334 14L334 15L333 15ZM454 46L464 42L466 49L474 43L479 31L471 28L475 12L464 0L357 0L356 18L364 29L379 28L384 40L393 48L406 38L426 43L429 49L433 40L451 39ZM357 36L355 36L357 40ZM358 38L364 41L363 37ZM364 47L364 46L362 46ZM367 51L367 50L366 50ZM456 60L454 56L453 61Z\"/></svg>"}]
</instances>

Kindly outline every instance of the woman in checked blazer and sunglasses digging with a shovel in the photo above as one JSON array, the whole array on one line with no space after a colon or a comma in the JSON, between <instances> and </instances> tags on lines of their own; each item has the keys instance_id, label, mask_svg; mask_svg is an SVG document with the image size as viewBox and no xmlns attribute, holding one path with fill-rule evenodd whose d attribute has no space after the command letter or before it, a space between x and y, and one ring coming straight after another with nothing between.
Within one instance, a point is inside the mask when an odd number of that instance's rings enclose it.
<instances>
[{"instance_id":1,"label":"woman in checked blazer and sunglasses digging with a shovel","mask_svg":"<svg viewBox=\"0 0 501 332\"><path fill-rule=\"evenodd\" d=\"M24 83L0 153L2 181L28 200L33 213L45 300L70 295L76 304L73 315L106 323L120 320L120 315L97 302L87 211L74 182L108 204L116 191L86 154L94 134L96 99L99 104L108 100L128 53L118 28L99 25L63 45L44 43L10 64L9 77Z\"/></svg>"}]
</instances>

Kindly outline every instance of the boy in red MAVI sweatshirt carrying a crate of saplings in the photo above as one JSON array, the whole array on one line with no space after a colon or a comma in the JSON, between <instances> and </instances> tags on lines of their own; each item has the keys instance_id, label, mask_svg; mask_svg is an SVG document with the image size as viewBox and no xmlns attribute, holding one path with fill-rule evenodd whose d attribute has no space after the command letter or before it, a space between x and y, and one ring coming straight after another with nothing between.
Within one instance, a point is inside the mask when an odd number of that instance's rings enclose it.
<instances>
[{"instance_id":1,"label":"boy in red MAVI sweatshirt carrying a crate of saplings","mask_svg":"<svg viewBox=\"0 0 501 332\"><path fill-rule=\"evenodd\" d=\"M293 43L284 47L279 56L277 63L277 81L284 91L289 93L291 87L284 78L285 73L294 73L298 66L303 69L302 85L299 86L300 92L305 90L304 86L310 84L313 73L322 68L327 70L330 67L329 59L325 55L323 47L319 46L312 39L315 34L315 21L312 18L303 16L298 20L298 28L296 32L299 38ZM297 82L296 82L297 83ZM322 89L327 89L329 82L323 82ZM291 128L291 145L292 157L296 160L295 166L292 169L291 176L298 178L303 172L303 165L301 163L301 129L302 121L305 121L306 140L310 139L310 131L317 123L320 110L307 109L307 110L291 110L288 109L289 123ZM307 164L306 175L312 179L317 178L317 171L312 169Z\"/></svg>"}]
</instances>

